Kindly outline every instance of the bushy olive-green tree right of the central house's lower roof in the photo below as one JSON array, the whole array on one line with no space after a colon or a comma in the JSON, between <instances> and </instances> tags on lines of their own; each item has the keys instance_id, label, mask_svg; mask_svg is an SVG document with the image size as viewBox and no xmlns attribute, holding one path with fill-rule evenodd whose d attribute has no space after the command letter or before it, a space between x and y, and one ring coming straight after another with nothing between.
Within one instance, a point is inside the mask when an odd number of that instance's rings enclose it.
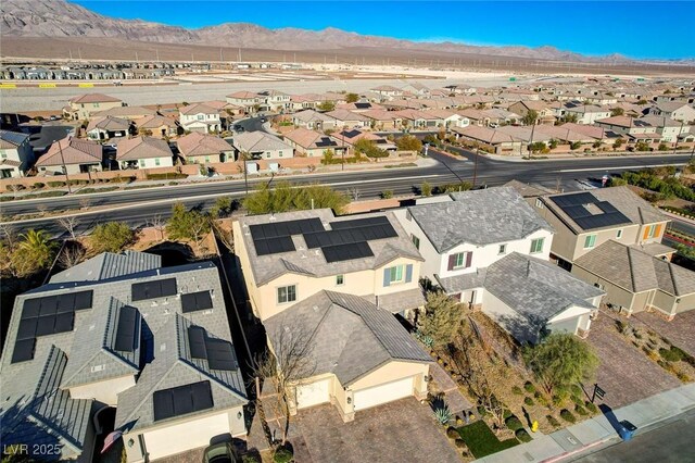
<instances>
[{"instance_id":1,"label":"bushy olive-green tree right of the central house's lower roof","mask_svg":"<svg viewBox=\"0 0 695 463\"><path fill-rule=\"evenodd\" d=\"M454 340L464 320L463 305L441 291L427 293L425 315L418 318L418 329L432 338L433 345L446 346Z\"/></svg>"}]
</instances>

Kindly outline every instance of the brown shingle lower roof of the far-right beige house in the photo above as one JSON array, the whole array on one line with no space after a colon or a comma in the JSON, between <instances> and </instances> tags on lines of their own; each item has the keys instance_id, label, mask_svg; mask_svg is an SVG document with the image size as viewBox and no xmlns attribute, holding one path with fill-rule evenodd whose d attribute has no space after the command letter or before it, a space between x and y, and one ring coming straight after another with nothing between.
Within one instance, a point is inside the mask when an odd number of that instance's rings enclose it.
<instances>
[{"instance_id":1,"label":"brown shingle lower roof of the far-right beige house","mask_svg":"<svg viewBox=\"0 0 695 463\"><path fill-rule=\"evenodd\" d=\"M582 255L574 265L631 292L658 288L673 296L695 293L695 272L614 240Z\"/></svg>"}]
</instances>

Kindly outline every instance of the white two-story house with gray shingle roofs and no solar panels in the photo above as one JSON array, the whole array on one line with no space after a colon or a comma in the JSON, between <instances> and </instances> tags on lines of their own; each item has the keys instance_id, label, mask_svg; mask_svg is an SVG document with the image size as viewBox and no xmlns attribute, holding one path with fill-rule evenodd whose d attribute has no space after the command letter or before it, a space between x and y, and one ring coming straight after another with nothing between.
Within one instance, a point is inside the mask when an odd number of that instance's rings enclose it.
<instances>
[{"instance_id":1,"label":"white two-story house with gray shingle roofs and no solar panels","mask_svg":"<svg viewBox=\"0 0 695 463\"><path fill-rule=\"evenodd\" d=\"M554 230L515 188L452 193L395 214L425 258L422 276L518 341L589 333L603 291L547 262Z\"/></svg>"}]
</instances>

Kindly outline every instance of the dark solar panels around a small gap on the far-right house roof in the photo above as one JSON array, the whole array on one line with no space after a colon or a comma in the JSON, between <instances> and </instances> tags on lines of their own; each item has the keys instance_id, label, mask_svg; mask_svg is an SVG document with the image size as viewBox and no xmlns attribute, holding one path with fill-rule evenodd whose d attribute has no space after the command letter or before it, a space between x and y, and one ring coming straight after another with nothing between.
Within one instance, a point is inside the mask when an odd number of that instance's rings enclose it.
<instances>
[{"instance_id":1,"label":"dark solar panels around a small gap on the far-right house roof","mask_svg":"<svg viewBox=\"0 0 695 463\"><path fill-rule=\"evenodd\" d=\"M631 223L630 218L618 211L611 203L599 201L590 192L564 195L552 199L563 212L584 230ZM601 213L592 213L585 208L587 204L598 208Z\"/></svg>"}]
</instances>

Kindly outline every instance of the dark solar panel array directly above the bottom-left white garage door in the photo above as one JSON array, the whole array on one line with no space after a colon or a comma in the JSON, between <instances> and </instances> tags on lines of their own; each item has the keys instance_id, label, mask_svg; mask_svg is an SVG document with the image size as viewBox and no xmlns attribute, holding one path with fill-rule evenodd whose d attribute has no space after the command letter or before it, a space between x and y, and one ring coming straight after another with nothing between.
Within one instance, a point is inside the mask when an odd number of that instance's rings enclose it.
<instances>
[{"instance_id":1,"label":"dark solar panel array directly above the bottom-left white garage door","mask_svg":"<svg viewBox=\"0 0 695 463\"><path fill-rule=\"evenodd\" d=\"M157 390L152 399L155 422L213 408L208 380Z\"/></svg>"}]
</instances>

